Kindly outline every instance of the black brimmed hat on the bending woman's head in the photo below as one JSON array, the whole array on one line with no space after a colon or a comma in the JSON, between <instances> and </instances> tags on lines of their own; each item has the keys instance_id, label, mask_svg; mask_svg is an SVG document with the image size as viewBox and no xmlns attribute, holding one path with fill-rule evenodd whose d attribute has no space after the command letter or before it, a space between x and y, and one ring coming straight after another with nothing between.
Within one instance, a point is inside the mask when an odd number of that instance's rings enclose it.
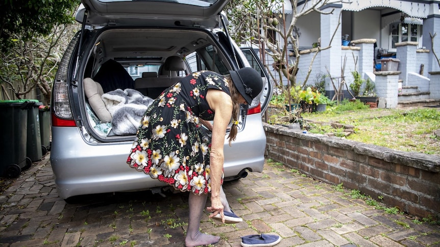
<instances>
[{"instance_id":1,"label":"black brimmed hat on the bending woman's head","mask_svg":"<svg viewBox=\"0 0 440 247\"><path fill-rule=\"evenodd\" d=\"M232 81L238 92L245 98L248 104L263 90L261 74L253 68L245 67L239 70L229 71Z\"/></svg>"}]
</instances>

